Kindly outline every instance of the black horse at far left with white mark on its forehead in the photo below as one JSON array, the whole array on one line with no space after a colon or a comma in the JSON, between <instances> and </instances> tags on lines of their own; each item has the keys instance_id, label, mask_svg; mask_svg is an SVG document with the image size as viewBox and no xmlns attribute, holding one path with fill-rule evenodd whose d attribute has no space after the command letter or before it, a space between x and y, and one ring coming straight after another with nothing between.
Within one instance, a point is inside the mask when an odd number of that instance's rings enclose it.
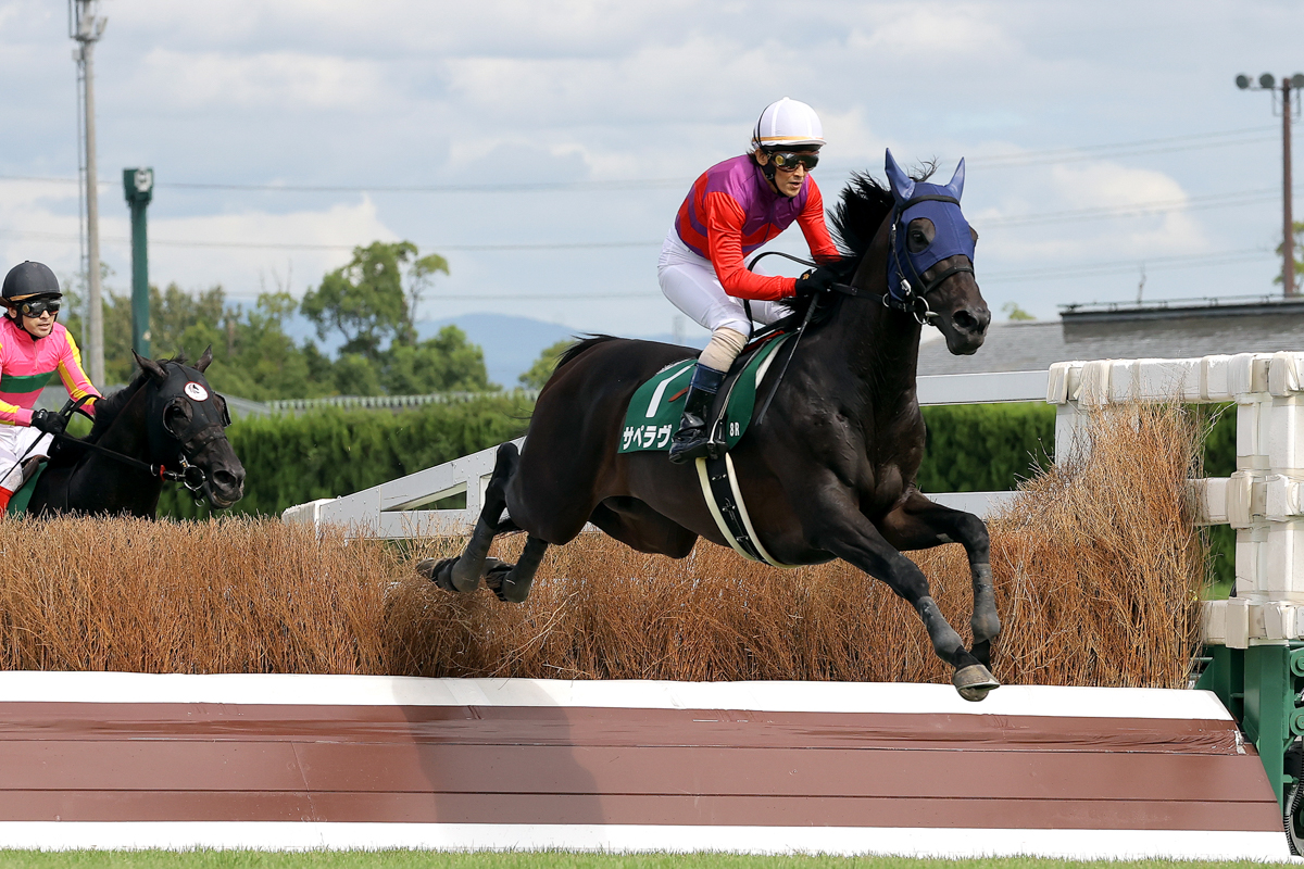
<instances>
[{"instance_id":1,"label":"black horse at far left with white mark on its forehead","mask_svg":"<svg viewBox=\"0 0 1304 869\"><path fill-rule=\"evenodd\" d=\"M203 377L213 348L194 367L184 358L136 361L136 378L95 403L90 434L56 440L27 512L154 519L167 481L214 507L240 500L244 468L224 431L231 417Z\"/></svg>"}]
</instances>

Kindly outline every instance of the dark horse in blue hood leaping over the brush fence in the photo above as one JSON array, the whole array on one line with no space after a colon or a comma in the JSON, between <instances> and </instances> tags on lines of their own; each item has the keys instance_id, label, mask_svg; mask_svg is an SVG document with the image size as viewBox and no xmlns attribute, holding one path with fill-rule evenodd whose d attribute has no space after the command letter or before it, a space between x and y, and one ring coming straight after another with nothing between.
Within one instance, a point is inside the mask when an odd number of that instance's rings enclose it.
<instances>
[{"instance_id":1,"label":"dark horse in blue hood leaping over the brush fence","mask_svg":"<svg viewBox=\"0 0 1304 869\"><path fill-rule=\"evenodd\" d=\"M960 211L964 162L948 185L936 185L909 177L888 154L888 180L884 188L855 176L842 193L832 225L848 285L797 302L818 305L818 313L768 412L730 456L755 532L777 562L840 558L885 581L919 614L936 654L955 668L960 694L982 700L999 685L988 670L1000 620L987 529L977 516L932 503L914 483L925 444L915 396L922 324L941 330L952 353L968 354L991 321L973 274L977 233ZM790 321L789 328L797 315ZM686 556L698 537L726 545L692 465L670 464L659 452L617 452L639 384L691 354L609 336L571 347L539 396L524 448L499 447L463 554L419 569L456 591L485 577L499 598L519 602L548 546L571 541L585 522L672 558ZM771 366L760 395L778 369ZM486 558L494 535L516 530L529 537L515 565ZM970 649L922 571L901 554L952 542L965 547L973 575Z\"/></svg>"}]
</instances>

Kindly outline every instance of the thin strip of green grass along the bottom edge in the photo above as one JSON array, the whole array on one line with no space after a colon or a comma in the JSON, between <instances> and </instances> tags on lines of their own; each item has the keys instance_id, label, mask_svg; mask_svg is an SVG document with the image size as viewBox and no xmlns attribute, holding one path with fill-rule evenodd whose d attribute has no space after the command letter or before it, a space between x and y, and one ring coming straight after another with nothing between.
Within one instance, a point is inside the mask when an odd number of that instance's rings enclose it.
<instances>
[{"instance_id":1,"label":"thin strip of green grass along the bottom edge","mask_svg":"<svg viewBox=\"0 0 1304 869\"><path fill-rule=\"evenodd\" d=\"M1228 869L1288 865L1178 862L1166 860L1080 861L1003 857L987 860L910 860L906 857L756 857L725 853L618 855L546 852L443 853L433 851L0 851L0 869Z\"/></svg>"}]
</instances>

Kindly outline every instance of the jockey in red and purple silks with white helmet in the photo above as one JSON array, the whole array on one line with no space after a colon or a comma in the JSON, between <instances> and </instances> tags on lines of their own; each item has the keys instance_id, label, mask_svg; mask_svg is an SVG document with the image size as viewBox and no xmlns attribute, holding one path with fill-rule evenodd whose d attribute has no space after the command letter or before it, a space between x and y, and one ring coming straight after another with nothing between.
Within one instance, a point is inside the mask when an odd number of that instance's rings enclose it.
<instances>
[{"instance_id":1,"label":"jockey in red and purple silks with white helmet","mask_svg":"<svg viewBox=\"0 0 1304 869\"><path fill-rule=\"evenodd\" d=\"M711 330L711 343L698 357L670 461L705 455L705 413L751 335L751 321L772 323L792 313L782 300L828 289L836 280L828 268L784 278L751 272L743 262L794 221L818 263L838 259L824 225L824 199L807 173L823 145L815 111L785 96L762 112L751 152L707 169L679 206L661 246L657 278L675 307ZM752 304L745 306L743 300Z\"/></svg>"}]
</instances>

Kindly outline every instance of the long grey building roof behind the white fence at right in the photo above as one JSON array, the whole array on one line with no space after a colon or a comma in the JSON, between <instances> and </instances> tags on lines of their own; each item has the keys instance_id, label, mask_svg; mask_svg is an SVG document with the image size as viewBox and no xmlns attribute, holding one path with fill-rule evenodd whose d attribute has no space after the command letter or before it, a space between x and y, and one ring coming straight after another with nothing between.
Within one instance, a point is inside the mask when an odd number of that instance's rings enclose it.
<instances>
[{"instance_id":1,"label":"long grey building roof behind the white fence at right","mask_svg":"<svg viewBox=\"0 0 1304 869\"><path fill-rule=\"evenodd\" d=\"M998 322L973 356L952 356L934 328L919 344L919 374L1038 371L1073 360L1187 358L1304 350L1304 300L1067 306L1060 319Z\"/></svg>"}]
</instances>

